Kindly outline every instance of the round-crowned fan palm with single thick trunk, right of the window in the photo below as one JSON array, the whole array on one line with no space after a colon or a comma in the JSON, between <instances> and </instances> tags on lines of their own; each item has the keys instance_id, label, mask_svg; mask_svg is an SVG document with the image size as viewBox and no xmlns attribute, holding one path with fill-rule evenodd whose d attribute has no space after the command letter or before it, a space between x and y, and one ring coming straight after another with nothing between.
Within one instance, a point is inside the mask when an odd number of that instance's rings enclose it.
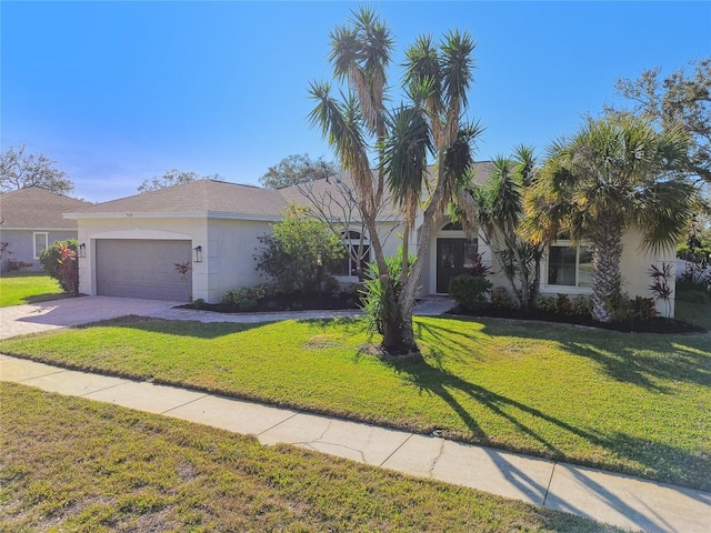
<instances>
[{"instance_id":1,"label":"round-crowned fan palm with single thick trunk, right of the window","mask_svg":"<svg viewBox=\"0 0 711 533\"><path fill-rule=\"evenodd\" d=\"M678 127L657 132L630 114L588 119L570 140L552 144L535 193L525 204L539 241L559 230L592 250L593 319L613 320L622 295L622 234L642 233L641 248L674 247L692 213L694 188L683 177L688 137Z\"/></svg>"}]
</instances>

